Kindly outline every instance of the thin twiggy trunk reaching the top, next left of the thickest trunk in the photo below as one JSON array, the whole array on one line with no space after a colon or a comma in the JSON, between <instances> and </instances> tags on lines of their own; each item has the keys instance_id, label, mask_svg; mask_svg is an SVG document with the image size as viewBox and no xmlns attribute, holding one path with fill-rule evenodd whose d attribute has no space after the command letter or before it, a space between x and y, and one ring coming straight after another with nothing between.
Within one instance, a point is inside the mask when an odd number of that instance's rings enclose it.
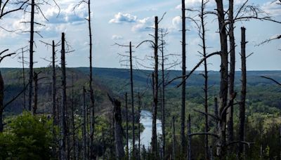
<instances>
[{"instance_id":1,"label":"thin twiggy trunk reaching the top, next left of the thickest trunk","mask_svg":"<svg viewBox=\"0 0 281 160\"><path fill-rule=\"evenodd\" d=\"M201 4L201 26L202 26L202 48L204 57L204 109L205 109L205 133L209 132L208 124L208 68L207 68L207 51L206 51L206 39L205 39L205 22L204 22L204 0ZM208 135L204 135L204 147L205 147L205 159L209 159L209 138Z\"/></svg>"}]
</instances>

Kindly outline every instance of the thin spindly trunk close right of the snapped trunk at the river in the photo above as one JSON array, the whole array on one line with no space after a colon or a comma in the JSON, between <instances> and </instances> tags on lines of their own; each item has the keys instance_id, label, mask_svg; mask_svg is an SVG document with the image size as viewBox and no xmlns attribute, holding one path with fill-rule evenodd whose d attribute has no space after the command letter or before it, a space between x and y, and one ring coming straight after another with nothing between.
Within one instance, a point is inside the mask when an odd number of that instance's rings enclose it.
<instances>
[{"instance_id":1,"label":"thin spindly trunk close right of the snapped trunk at the river","mask_svg":"<svg viewBox=\"0 0 281 160\"><path fill-rule=\"evenodd\" d=\"M162 40L162 152L164 159L166 158L165 148L166 148L166 134L165 134L165 78L164 78L164 39L163 39L163 32L161 36Z\"/></svg>"}]
</instances>

